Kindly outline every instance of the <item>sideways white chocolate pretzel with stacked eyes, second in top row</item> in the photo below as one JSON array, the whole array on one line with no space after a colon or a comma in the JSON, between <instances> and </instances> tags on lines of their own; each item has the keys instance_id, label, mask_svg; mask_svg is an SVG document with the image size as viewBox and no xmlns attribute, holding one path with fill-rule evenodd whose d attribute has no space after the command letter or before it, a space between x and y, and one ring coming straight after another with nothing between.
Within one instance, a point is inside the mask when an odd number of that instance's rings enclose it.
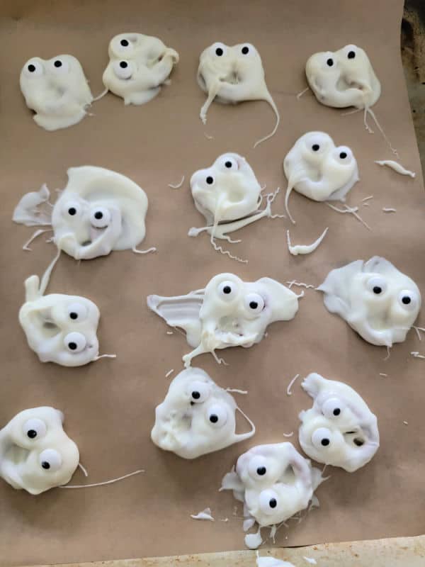
<instances>
[{"instance_id":1,"label":"sideways white chocolate pretzel with stacked eyes, second in top row","mask_svg":"<svg viewBox=\"0 0 425 567\"><path fill-rule=\"evenodd\" d=\"M108 54L103 84L125 104L144 104L154 99L179 62L179 53L174 49L142 33L115 35Z\"/></svg>"}]
</instances>

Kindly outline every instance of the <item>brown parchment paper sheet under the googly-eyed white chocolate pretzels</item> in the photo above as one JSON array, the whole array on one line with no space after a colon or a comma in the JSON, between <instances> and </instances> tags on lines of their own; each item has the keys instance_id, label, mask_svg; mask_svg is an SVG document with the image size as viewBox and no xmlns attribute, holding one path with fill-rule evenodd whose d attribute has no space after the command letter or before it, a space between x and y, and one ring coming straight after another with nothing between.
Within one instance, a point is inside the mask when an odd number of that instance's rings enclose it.
<instances>
[{"instance_id":1,"label":"brown parchment paper sheet under the googly-eyed white chocolate pretzels","mask_svg":"<svg viewBox=\"0 0 425 567\"><path fill-rule=\"evenodd\" d=\"M242 520L232 515L232 495L217 492L221 478L249 447L283 442L283 432L297 432L297 414L310 407L310 398L299 383L292 397L285 391L295 374L310 371L340 378L364 396L378 415L382 447L356 473L331 470L331 479L317 490L320 509L300 524L290 522L277 543L423 532L424 361L409 353L425 352L425 342L422 347L412 331L384 361L385 349L363 342L343 320L327 313L315 291L307 291L295 320L269 327L261 344L221 352L229 366L218 366L210 355L194 363L221 386L249 391L239 403L256 422L254 439L196 461L160 451L149 439L154 407L170 381L165 374L175 369L175 376L188 352L186 340L176 332L166 335L165 322L147 309L149 293L186 293L222 271L246 280L271 276L318 285L330 269L373 254L390 259L425 291L424 186L399 57L402 1L3 1L1 11L1 425L24 408L53 405L64 411L65 428L89 469L87 479L77 471L74 484L104 481L137 468L146 473L115 485L55 489L38 497L1 482L0 564L243 549ZM23 63L33 55L69 52L83 64L96 95L103 90L108 42L124 31L157 35L179 51L181 62L171 86L141 107L125 107L108 94L94 104L96 116L77 126L55 133L38 128L19 91ZM256 150L254 141L273 126L266 103L215 103L206 127L198 118L205 100L195 80L198 56L216 40L231 45L249 41L263 58L282 121L276 136ZM399 149L400 161L416 172L416 179L373 163L392 155L379 133L365 132L361 113L343 117L341 111L319 105L311 93L295 98L306 84L307 57L346 43L368 52L382 82L374 110ZM228 247L248 257L247 265L213 252L205 235L186 236L189 228L203 223L188 188L196 169L207 167L222 152L239 152L269 191L284 188L283 157L297 137L316 129L353 148L361 181L349 202L360 204L373 194L370 207L361 207L372 232L351 215L293 193L293 243L312 242L329 226L312 255L290 257L287 220L261 220L239 232L243 242ZM158 252L142 257L114 252L81 263L63 254L48 291L96 301L102 313L101 352L118 354L116 360L66 369L41 364L18 325L23 281L42 274L55 249L40 238L33 252L23 252L32 229L13 225L11 215L23 193L44 182L55 198L55 189L66 184L67 168L83 164L114 169L145 189L149 211L142 247L154 245ZM183 174L184 186L169 189L167 184L178 183ZM397 213L385 214L382 207L395 207ZM283 212L283 194L274 212ZM423 316L419 323L425 325ZM296 437L291 440L297 444ZM217 519L228 517L229 522L191 520L191 514L207 506Z\"/></svg>"}]
</instances>

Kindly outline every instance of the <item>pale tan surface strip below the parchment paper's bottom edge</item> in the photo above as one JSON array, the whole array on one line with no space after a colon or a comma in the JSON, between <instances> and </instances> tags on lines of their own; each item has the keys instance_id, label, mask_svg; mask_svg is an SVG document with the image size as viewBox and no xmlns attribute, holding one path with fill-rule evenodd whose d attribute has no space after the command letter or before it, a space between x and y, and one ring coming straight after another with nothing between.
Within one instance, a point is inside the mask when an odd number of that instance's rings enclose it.
<instances>
[{"instance_id":1,"label":"pale tan surface strip below the parchment paper's bottom edge","mask_svg":"<svg viewBox=\"0 0 425 567\"><path fill-rule=\"evenodd\" d=\"M313 558L317 567L424 567L425 536L351 541L309 547L261 549L260 555L290 561L294 567L309 567ZM186 555L152 559L123 559L74 563L61 567L256 567L254 551L222 554ZM46 567L46 566L45 566Z\"/></svg>"}]
</instances>

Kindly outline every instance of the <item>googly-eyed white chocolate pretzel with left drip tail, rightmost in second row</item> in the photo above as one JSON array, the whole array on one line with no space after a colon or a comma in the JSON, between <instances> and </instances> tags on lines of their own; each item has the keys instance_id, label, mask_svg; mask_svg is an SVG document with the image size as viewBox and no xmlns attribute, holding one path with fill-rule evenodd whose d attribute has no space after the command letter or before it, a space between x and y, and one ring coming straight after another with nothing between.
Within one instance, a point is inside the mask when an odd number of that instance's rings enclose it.
<instances>
[{"instance_id":1,"label":"googly-eyed white chocolate pretzel with left drip tail, rightmost in second row","mask_svg":"<svg viewBox=\"0 0 425 567\"><path fill-rule=\"evenodd\" d=\"M351 149L336 147L324 132L307 132L298 138L283 160L283 170L288 179L285 205L289 216L288 198L293 189L313 201L345 201L358 181Z\"/></svg>"}]
</instances>

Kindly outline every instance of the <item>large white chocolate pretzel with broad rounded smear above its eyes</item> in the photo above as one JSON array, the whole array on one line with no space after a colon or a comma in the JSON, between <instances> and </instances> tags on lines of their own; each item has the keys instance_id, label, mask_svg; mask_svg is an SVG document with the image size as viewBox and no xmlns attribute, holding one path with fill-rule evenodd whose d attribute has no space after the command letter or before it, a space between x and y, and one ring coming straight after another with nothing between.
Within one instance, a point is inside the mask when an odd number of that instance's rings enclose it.
<instances>
[{"instance_id":1,"label":"large white chocolate pretzel with broad rounded smear above its eyes","mask_svg":"<svg viewBox=\"0 0 425 567\"><path fill-rule=\"evenodd\" d=\"M75 259L106 256L112 250L142 252L136 247L146 232L145 191L128 177L103 167L71 167L67 174L67 186L51 211L57 248ZM47 213L40 204L49 195L45 186L38 193L24 195L13 220L27 226L47 224ZM38 206L34 206L36 201Z\"/></svg>"}]
</instances>

